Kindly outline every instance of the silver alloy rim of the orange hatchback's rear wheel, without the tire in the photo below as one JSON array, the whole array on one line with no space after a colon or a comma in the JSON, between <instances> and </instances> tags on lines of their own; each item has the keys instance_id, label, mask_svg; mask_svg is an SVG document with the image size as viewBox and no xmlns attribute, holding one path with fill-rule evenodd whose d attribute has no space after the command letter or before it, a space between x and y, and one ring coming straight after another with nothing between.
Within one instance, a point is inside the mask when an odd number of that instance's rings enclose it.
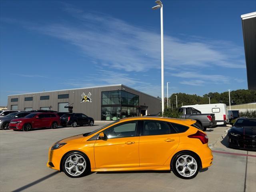
<instances>
[{"instance_id":1,"label":"silver alloy rim of the orange hatchback's rear wheel, without the tire","mask_svg":"<svg viewBox=\"0 0 256 192\"><path fill-rule=\"evenodd\" d=\"M176 170L181 176L191 177L196 173L196 160L190 155L182 155L176 161Z\"/></svg>"}]
</instances>

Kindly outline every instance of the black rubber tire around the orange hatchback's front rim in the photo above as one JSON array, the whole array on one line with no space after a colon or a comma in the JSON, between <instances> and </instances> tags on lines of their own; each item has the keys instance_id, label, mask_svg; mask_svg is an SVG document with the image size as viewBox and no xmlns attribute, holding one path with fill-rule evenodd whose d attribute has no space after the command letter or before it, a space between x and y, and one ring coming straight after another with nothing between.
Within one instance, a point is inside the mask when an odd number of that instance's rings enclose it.
<instances>
[{"instance_id":1,"label":"black rubber tire around the orange hatchback's front rim","mask_svg":"<svg viewBox=\"0 0 256 192\"><path fill-rule=\"evenodd\" d=\"M66 166L68 167L71 167L71 166L73 166L73 164L72 163L70 163L70 162L68 162L68 163L66 163L66 160L68 159L68 158L70 158L70 156L74 156L74 155L79 155L79 156L82 156L83 158L84 158L84 160L85 160L85 168L83 168L82 166L78 166L77 165L77 163L78 162L75 162L75 164L74 164L74 168L71 170L71 172L74 174L74 172L76 172L76 170L78 169L78 170L81 170L81 169L83 169L83 172L82 173L80 173L79 175L72 175L72 174L70 174L67 170L66 170ZM74 160L74 159L73 159ZM83 159L79 159L79 161L81 162ZM71 165L70 165L71 164ZM76 166L75 166L76 165ZM63 161L62 161L62 170L63 170L63 172L67 175L67 176L69 176L69 177L72 177L72 178L78 178L78 177L83 177L83 176L86 176L89 172L90 172L90 170L91 170L91 167L90 167L90 161L89 161L89 159L88 159L88 157L86 156L86 155L84 155L83 153L81 153L81 152L79 152L79 151L72 151L72 152L70 152L70 153L68 153L68 154L66 154L66 156L64 157L64 159L63 159Z\"/></svg>"}]
</instances>

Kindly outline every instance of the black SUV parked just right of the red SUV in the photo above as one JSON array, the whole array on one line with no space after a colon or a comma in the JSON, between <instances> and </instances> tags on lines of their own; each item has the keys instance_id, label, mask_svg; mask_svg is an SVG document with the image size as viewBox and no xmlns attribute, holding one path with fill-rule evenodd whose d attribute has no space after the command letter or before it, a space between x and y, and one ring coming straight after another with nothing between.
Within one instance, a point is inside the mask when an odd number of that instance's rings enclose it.
<instances>
[{"instance_id":1,"label":"black SUV parked just right of the red SUV","mask_svg":"<svg viewBox=\"0 0 256 192\"><path fill-rule=\"evenodd\" d=\"M61 126L68 126L68 125L71 125L72 127L76 127L77 125L93 126L93 124L94 124L94 119L82 113L68 113L60 117Z\"/></svg>"}]
</instances>

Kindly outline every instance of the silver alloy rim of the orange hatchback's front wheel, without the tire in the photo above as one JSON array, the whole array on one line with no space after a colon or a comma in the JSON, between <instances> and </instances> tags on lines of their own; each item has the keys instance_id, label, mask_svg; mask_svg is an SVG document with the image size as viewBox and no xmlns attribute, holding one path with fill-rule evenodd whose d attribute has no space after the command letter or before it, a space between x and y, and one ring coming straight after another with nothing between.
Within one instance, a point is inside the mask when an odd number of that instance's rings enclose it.
<instances>
[{"instance_id":1,"label":"silver alloy rim of the orange hatchback's front wheel, without the tire","mask_svg":"<svg viewBox=\"0 0 256 192\"><path fill-rule=\"evenodd\" d=\"M68 174L78 176L86 170L86 160L79 154L72 154L65 162L65 169Z\"/></svg>"}]
</instances>

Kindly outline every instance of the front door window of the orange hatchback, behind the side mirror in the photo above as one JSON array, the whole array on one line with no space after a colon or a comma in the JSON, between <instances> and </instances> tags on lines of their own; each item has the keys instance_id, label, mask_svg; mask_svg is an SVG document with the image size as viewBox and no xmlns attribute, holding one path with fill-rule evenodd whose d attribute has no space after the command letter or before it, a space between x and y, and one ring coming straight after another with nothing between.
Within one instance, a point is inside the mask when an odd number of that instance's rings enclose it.
<instances>
[{"instance_id":1,"label":"front door window of the orange hatchback, behind the side mirror","mask_svg":"<svg viewBox=\"0 0 256 192\"><path fill-rule=\"evenodd\" d=\"M108 139L136 136L137 122L128 122L104 131Z\"/></svg>"}]
</instances>

